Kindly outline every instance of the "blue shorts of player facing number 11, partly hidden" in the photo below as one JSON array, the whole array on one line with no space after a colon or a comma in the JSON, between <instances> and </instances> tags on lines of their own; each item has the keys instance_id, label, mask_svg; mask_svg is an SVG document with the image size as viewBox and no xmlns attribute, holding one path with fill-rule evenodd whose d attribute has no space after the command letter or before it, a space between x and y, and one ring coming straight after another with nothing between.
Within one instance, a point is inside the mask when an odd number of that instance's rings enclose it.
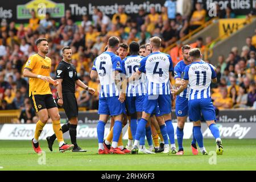
<instances>
[{"instance_id":1,"label":"blue shorts of player facing number 11, partly hidden","mask_svg":"<svg viewBox=\"0 0 256 182\"><path fill-rule=\"evenodd\" d=\"M184 117L188 115L188 98L180 96L176 98L175 113L177 117Z\"/></svg>"}]
</instances>

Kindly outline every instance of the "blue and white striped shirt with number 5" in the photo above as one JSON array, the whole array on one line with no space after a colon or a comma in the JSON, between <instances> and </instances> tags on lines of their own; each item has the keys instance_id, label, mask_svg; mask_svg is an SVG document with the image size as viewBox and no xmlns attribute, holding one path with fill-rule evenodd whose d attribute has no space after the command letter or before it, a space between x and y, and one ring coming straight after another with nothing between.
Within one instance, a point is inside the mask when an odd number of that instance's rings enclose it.
<instances>
[{"instance_id":1,"label":"blue and white striped shirt with number 5","mask_svg":"<svg viewBox=\"0 0 256 182\"><path fill-rule=\"evenodd\" d=\"M100 98L119 96L115 85L114 72L122 72L121 58L113 52L104 52L94 60L92 70L98 72L101 90Z\"/></svg>"}]
</instances>

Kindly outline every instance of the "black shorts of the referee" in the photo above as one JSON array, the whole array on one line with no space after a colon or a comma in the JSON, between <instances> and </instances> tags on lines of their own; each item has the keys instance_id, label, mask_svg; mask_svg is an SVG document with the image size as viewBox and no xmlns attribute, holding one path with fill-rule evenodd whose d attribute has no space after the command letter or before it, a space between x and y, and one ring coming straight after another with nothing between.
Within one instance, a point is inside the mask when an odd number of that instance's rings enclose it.
<instances>
[{"instance_id":1,"label":"black shorts of the referee","mask_svg":"<svg viewBox=\"0 0 256 182\"><path fill-rule=\"evenodd\" d=\"M68 120L78 117L78 105L75 93L63 93L62 95L63 109L65 110Z\"/></svg>"}]
</instances>

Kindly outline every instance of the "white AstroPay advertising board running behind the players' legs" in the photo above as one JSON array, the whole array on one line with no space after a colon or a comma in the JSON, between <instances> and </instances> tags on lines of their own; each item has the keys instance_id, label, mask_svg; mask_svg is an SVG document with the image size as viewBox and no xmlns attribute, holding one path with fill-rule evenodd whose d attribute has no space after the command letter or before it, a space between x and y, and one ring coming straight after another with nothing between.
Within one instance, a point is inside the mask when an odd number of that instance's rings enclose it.
<instances>
[{"instance_id":1,"label":"white AstroPay advertising board running behind the players' legs","mask_svg":"<svg viewBox=\"0 0 256 182\"><path fill-rule=\"evenodd\" d=\"M221 138L230 139L256 139L256 123L217 123ZM177 123L174 123L176 129ZM0 125L0 140L31 140L34 137L36 124L4 124ZM104 138L109 133L110 123L106 124ZM189 122L184 127L184 139L192 138L193 123ZM128 139L127 125L123 128L123 139ZM206 123L202 123L201 131L204 138L213 138L212 133ZM51 124L44 126L39 139L45 140L53 134ZM69 139L69 133L63 135L64 139ZM175 130L176 138L176 130ZM97 139L97 124L79 124L77 126L77 139Z\"/></svg>"}]
</instances>

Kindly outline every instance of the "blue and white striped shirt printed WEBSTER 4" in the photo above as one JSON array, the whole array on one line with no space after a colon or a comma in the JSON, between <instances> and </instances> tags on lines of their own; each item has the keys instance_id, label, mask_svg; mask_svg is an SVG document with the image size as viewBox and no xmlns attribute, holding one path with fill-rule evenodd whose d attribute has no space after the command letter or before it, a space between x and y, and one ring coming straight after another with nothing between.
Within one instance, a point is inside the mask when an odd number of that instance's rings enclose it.
<instances>
[{"instance_id":1,"label":"blue and white striped shirt printed WEBSTER 4","mask_svg":"<svg viewBox=\"0 0 256 182\"><path fill-rule=\"evenodd\" d=\"M139 71L146 73L148 95L171 94L169 72L173 71L170 55L154 52L141 60Z\"/></svg>"}]
</instances>

